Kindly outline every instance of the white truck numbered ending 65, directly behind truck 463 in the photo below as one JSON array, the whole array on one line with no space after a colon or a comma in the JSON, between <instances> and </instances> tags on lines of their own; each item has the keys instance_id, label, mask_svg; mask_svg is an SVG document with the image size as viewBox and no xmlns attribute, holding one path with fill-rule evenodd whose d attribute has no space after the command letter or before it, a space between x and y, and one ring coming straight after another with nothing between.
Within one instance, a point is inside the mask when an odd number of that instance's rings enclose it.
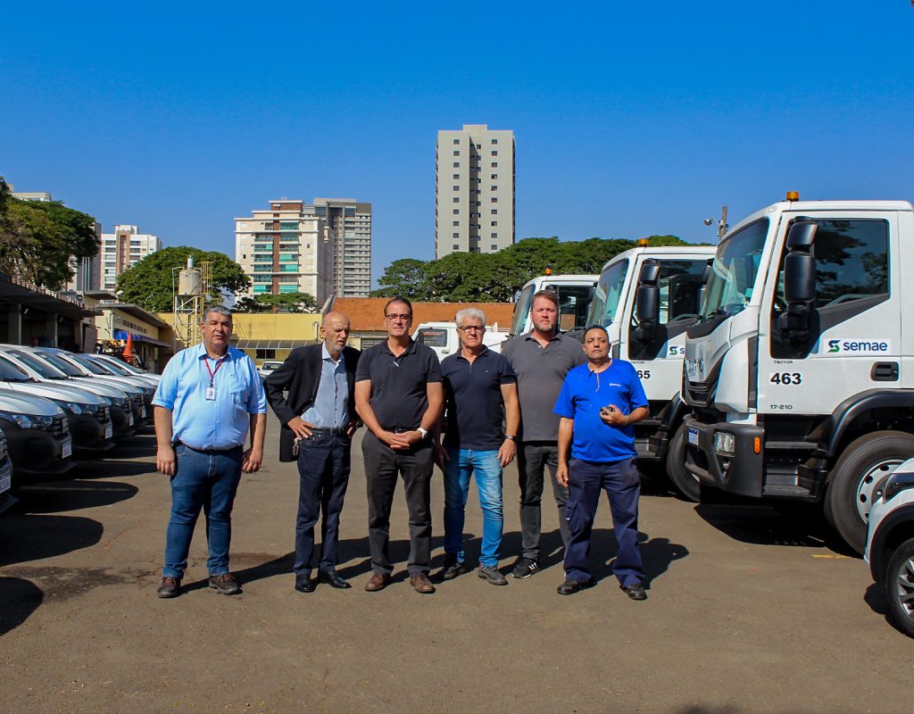
<instances>
[{"instance_id":1,"label":"white truck numbered ending 65, directly behind truck 463","mask_svg":"<svg viewBox=\"0 0 914 714\"><path fill-rule=\"evenodd\" d=\"M697 500L698 483L683 467L682 387L685 329L695 322L714 246L639 247L603 266L589 325L603 325L612 356L632 362L651 414L635 427L643 462L664 464L670 481ZM572 333L583 338L582 332Z\"/></svg>"}]
</instances>

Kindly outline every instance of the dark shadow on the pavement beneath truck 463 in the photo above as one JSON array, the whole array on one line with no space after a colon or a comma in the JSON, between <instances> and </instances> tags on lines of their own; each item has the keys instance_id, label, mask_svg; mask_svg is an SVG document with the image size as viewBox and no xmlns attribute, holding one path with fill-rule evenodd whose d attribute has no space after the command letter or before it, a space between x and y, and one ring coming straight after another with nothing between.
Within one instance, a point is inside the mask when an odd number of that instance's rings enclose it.
<instances>
[{"instance_id":1,"label":"dark shadow on the pavement beneath truck 463","mask_svg":"<svg viewBox=\"0 0 914 714\"><path fill-rule=\"evenodd\" d=\"M769 506L695 506L698 516L740 543L765 546L827 548L841 555L859 555L836 542L824 518L814 508L781 513Z\"/></svg>"}]
</instances>

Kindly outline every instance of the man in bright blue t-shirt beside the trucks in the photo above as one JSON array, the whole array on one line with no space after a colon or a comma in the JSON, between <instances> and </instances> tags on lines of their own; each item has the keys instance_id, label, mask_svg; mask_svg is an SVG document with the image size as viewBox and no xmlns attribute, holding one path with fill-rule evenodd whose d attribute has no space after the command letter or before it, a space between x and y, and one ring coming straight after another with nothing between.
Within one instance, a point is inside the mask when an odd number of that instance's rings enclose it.
<instances>
[{"instance_id":1,"label":"man in bright blue t-shirt beside the trucks","mask_svg":"<svg viewBox=\"0 0 914 714\"><path fill-rule=\"evenodd\" d=\"M602 489L610 499L619 544L612 572L632 600L645 600L638 551L641 477L632 424L647 417L647 398L632 364L610 357L610 339L604 328L587 328L584 353L587 364L568 373L555 407L561 417L556 477L569 488L570 530L565 582L558 586L558 594L571 595L593 584L588 560L590 532Z\"/></svg>"}]
</instances>

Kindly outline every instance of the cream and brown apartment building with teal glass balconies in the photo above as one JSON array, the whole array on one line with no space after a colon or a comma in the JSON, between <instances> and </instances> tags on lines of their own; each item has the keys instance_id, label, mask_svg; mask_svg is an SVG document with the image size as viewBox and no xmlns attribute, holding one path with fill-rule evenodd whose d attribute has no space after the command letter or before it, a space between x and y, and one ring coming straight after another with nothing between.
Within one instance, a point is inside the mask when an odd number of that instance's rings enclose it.
<instances>
[{"instance_id":1,"label":"cream and brown apartment building with teal glass balconies","mask_svg":"<svg viewBox=\"0 0 914 714\"><path fill-rule=\"evenodd\" d=\"M235 261L253 283L248 295L309 293L320 306L333 293L336 235L313 208L281 198L235 218Z\"/></svg>"}]
</instances>

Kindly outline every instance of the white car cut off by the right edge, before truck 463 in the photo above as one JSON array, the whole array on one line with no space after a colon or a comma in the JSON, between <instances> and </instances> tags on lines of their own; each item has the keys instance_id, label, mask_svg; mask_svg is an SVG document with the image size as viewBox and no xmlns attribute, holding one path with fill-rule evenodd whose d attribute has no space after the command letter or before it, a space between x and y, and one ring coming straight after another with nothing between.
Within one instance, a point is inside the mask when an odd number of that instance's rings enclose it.
<instances>
[{"instance_id":1,"label":"white car cut off by the right edge, before truck 463","mask_svg":"<svg viewBox=\"0 0 914 714\"><path fill-rule=\"evenodd\" d=\"M914 459L898 466L881 491L869 512L863 558L886 591L892 622L914 637Z\"/></svg>"}]
</instances>

